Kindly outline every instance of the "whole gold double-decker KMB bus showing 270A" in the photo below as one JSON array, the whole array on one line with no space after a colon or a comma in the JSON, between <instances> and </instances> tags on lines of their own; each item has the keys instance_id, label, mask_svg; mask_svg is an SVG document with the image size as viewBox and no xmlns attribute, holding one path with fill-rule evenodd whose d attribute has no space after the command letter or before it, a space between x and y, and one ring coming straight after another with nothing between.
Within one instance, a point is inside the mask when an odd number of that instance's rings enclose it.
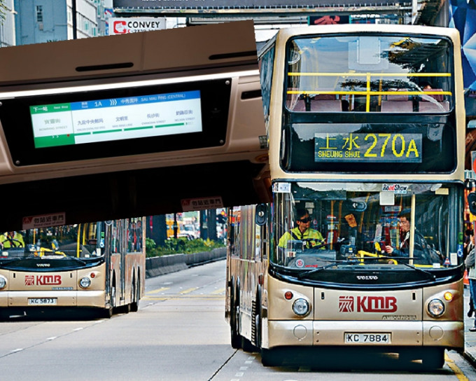
<instances>
[{"instance_id":1,"label":"whole gold double-decker KMB bus showing 270A","mask_svg":"<svg viewBox=\"0 0 476 381\"><path fill-rule=\"evenodd\" d=\"M336 25L262 49L273 195L230 210L233 347L429 368L463 349L460 48L455 29Z\"/></svg>"}]
</instances>

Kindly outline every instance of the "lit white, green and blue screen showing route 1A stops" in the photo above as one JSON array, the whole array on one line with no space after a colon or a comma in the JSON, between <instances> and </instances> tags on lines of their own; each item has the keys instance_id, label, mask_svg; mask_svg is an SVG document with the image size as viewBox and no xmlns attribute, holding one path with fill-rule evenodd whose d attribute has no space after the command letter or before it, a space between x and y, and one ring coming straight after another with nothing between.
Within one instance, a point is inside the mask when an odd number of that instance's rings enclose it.
<instances>
[{"instance_id":1,"label":"lit white, green and blue screen showing route 1A stops","mask_svg":"<svg viewBox=\"0 0 476 381\"><path fill-rule=\"evenodd\" d=\"M202 132L200 90L30 106L35 148Z\"/></svg>"}]
</instances>

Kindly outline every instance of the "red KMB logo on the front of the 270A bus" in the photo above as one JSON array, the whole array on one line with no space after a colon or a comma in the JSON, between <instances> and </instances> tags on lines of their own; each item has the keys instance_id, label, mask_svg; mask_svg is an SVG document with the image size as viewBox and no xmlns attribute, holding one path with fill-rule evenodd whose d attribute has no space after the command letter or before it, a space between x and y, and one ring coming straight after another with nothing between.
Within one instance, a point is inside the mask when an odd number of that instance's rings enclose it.
<instances>
[{"instance_id":1,"label":"red KMB logo on the front of the 270A bus","mask_svg":"<svg viewBox=\"0 0 476 381\"><path fill-rule=\"evenodd\" d=\"M339 312L396 312L395 296L339 296Z\"/></svg>"}]
</instances>

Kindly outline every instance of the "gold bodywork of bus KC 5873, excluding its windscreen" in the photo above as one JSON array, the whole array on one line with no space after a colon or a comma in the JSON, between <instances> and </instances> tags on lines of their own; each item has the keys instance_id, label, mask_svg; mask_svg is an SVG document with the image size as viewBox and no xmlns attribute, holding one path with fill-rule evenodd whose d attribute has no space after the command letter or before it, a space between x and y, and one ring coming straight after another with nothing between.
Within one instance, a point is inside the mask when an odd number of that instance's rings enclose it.
<instances>
[{"instance_id":1,"label":"gold bodywork of bus KC 5873, excluding its windscreen","mask_svg":"<svg viewBox=\"0 0 476 381\"><path fill-rule=\"evenodd\" d=\"M85 307L111 317L113 310L137 310L146 283L145 219L137 220L141 221L142 251L104 252L99 265L81 268L78 263L78 268L71 270L45 271L48 268L45 257L38 258L41 270L1 268L0 277L6 279L6 286L0 289L0 314L8 317L10 312L31 307L42 310ZM127 223L118 223L117 241L125 238L127 227ZM127 240L121 247L125 244ZM83 277L91 280L90 286L80 286Z\"/></svg>"}]
</instances>

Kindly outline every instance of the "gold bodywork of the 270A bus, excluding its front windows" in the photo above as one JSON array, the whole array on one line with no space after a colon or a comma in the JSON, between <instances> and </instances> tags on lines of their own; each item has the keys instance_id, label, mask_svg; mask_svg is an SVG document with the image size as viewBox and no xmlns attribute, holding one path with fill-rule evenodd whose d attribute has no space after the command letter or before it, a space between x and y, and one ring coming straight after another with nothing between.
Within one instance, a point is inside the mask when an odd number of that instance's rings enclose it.
<instances>
[{"instance_id":1,"label":"gold bodywork of the 270A bus, excluding its front windows","mask_svg":"<svg viewBox=\"0 0 476 381\"><path fill-rule=\"evenodd\" d=\"M283 160L284 119L283 96L285 96L283 78L286 72L286 43L295 36L325 36L326 34L358 34L359 32L395 32L401 34L421 34L445 36L451 40L454 49L454 108L456 111L456 166L451 173L351 173L333 172L286 172L281 167ZM318 38L316 38L318 39ZM266 53L274 46L272 81L269 88L269 104L265 106L265 121L269 134L269 170L272 183L333 182L333 183L443 183L461 187L464 170L465 118L460 42L458 32L449 28L430 28L399 25L331 25L282 29L274 41L262 49ZM263 55L264 55L263 53ZM264 63L260 62L261 68ZM266 69L265 69L266 70ZM261 76L269 78L269 71ZM268 109L268 113L266 113ZM384 121L384 120L383 120ZM321 123L325 123L321 121ZM279 185L279 184L278 184ZM274 211L276 212L277 207ZM241 225L230 231L235 233L228 247L227 259L227 296L225 319L230 322L232 346L245 350L260 350L262 362L269 365L269 353L273 349L286 347L330 348L342 347L355 349L381 349L381 352L400 352L407 349L423 354L423 363L440 367L444 361L444 349L462 350L464 347L463 324L463 282L454 278L454 282L432 286L425 282L422 286L412 285L394 288L391 286L372 288L362 286L346 287L333 279L330 286L311 286L286 277L276 277L269 273L270 247L277 245L278 237L272 237L271 224L258 226L255 223L255 207L246 206L233 209ZM269 213L271 216L271 213ZM229 219L231 219L229 214ZM283 221L279 220L279 223ZM232 221L230 220L230 226ZM259 232L257 233L257 229ZM269 229L263 234L263 230ZM258 242L258 237L265 237ZM255 242L256 241L256 242ZM254 248L259 248L260 252ZM251 250L251 251L250 251ZM281 263L282 265L282 263ZM279 267L279 266L276 266ZM278 270L276 270L278 271ZM384 270L381 271L384 274ZM384 275L382 275L384 276ZM297 278L297 277L295 277ZM286 299L290 291L292 298ZM449 292L448 292L449 291ZM448 292L451 300L445 300ZM310 312L298 317L292 309L297 299L307 300ZM357 306L357 298L360 298ZM363 299L365 298L365 299ZM430 300L439 298L444 301L444 314L435 318L427 312ZM340 304L339 304L340 303ZM372 304L368 304L372 303ZM382 307L383 306L383 307ZM396 309L395 309L396 306ZM360 308L360 310L358 310ZM388 334L387 342L355 342L351 338L361 338L359 334ZM354 335L347 336L346 335ZM241 339L241 341L240 341ZM431 349L436 349L432 352ZM278 352L279 353L279 352ZM289 353L289 352L286 352ZM292 353L292 352L291 352ZM432 359L433 357L433 359ZM416 357L418 358L418 357ZM423 359L423 356L420 357ZM279 363L279 362L278 362Z\"/></svg>"}]
</instances>

